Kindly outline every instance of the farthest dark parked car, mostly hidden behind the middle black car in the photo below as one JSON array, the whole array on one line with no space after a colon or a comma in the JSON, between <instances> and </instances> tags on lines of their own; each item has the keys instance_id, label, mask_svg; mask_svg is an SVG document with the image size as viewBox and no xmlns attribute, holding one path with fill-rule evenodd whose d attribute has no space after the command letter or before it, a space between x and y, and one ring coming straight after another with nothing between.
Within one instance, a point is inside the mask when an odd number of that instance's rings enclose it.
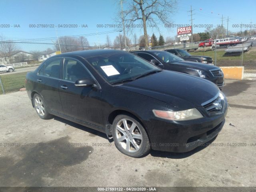
<instances>
[{"instance_id":1,"label":"farthest dark parked car, mostly hidden behind the middle black car","mask_svg":"<svg viewBox=\"0 0 256 192\"><path fill-rule=\"evenodd\" d=\"M190 55L187 51L182 49L166 49L165 51L172 53L186 61L194 61L200 63L212 64L212 58L208 56Z\"/></svg>"}]
</instances>

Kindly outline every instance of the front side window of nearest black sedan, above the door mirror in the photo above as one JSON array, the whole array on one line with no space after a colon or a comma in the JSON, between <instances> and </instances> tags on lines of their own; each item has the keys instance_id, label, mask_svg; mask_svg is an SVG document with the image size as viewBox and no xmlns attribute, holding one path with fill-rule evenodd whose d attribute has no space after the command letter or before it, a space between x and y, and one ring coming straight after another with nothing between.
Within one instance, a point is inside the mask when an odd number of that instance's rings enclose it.
<instances>
[{"instance_id":1,"label":"front side window of nearest black sedan, above the door mirror","mask_svg":"<svg viewBox=\"0 0 256 192\"><path fill-rule=\"evenodd\" d=\"M84 78L91 78L86 68L76 60L65 58L63 79L76 82L76 80Z\"/></svg>"}]
</instances>

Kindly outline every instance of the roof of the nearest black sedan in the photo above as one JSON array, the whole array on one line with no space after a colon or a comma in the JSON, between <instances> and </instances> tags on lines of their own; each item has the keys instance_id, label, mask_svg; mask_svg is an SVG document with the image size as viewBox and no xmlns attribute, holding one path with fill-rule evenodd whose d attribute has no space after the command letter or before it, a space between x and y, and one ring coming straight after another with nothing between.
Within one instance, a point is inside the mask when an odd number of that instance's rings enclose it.
<instances>
[{"instance_id":1,"label":"roof of the nearest black sedan","mask_svg":"<svg viewBox=\"0 0 256 192\"><path fill-rule=\"evenodd\" d=\"M78 55L83 58L88 58L88 57L100 56L104 54L112 55L112 54L118 54L118 53L128 53L128 52L121 51L121 50L114 50L114 49L82 50L82 51L74 51L74 52L58 54L58 55L52 56L51 58L65 56L65 55L69 55L69 56Z\"/></svg>"}]
</instances>

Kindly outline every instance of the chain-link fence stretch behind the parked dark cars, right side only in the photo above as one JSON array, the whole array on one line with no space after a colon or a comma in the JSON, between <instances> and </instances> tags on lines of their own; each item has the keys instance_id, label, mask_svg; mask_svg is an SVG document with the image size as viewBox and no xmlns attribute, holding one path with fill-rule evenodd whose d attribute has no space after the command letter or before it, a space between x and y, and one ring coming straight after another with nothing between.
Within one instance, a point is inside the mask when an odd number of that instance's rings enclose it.
<instances>
[{"instance_id":1,"label":"chain-link fence stretch behind the parked dark cars, right side only","mask_svg":"<svg viewBox=\"0 0 256 192\"><path fill-rule=\"evenodd\" d=\"M207 46L200 46L202 42L193 43L179 43L165 46L152 47L151 50L168 50L168 49L182 49L186 50L188 54L194 56L208 56L212 58L212 64L224 66L244 66L246 71L253 70L256 72L256 47L254 44L256 40L246 40L240 44L210 44ZM205 41L205 43L208 43ZM243 51L242 51L243 50ZM178 56L186 56L182 53L177 53Z\"/></svg>"}]
</instances>

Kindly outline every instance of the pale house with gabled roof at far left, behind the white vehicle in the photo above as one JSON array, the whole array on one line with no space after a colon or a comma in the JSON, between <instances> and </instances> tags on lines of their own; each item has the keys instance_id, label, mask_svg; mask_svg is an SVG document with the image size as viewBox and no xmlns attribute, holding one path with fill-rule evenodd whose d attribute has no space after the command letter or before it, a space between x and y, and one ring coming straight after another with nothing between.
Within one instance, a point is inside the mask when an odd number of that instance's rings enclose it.
<instances>
[{"instance_id":1,"label":"pale house with gabled roof at far left, behind the white vehicle","mask_svg":"<svg viewBox=\"0 0 256 192\"><path fill-rule=\"evenodd\" d=\"M13 64L26 61L32 61L34 57L31 53L25 51L15 51L7 56L7 54L0 55L0 64Z\"/></svg>"}]
</instances>

